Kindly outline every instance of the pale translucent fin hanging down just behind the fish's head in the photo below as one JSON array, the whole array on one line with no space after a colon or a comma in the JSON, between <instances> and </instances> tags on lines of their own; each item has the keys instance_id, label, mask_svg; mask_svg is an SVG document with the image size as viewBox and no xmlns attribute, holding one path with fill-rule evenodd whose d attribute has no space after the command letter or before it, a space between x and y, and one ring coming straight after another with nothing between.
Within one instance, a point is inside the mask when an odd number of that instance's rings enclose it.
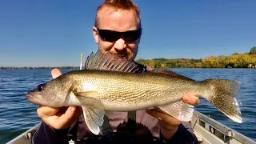
<instances>
[{"instance_id":1,"label":"pale translucent fin hanging down just behind the fish's head","mask_svg":"<svg viewBox=\"0 0 256 144\"><path fill-rule=\"evenodd\" d=\"M104 122L104 110L92 106L82 106L82 112L89 130L98 135L100 126Z\"/></svg>"}]
</instances>

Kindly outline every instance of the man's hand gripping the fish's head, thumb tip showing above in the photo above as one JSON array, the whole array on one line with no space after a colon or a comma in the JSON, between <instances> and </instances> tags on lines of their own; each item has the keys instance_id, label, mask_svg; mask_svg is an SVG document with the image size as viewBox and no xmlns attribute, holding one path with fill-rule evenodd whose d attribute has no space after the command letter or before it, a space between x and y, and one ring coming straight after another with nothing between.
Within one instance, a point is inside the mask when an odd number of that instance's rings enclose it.
<instances>
[{"instance_id":1,"label":"man's hand gripping the fish's head, thumb tip showing above","mask_svg":"<svg viewBox=\"0 0 256 144\"><path fill-rule=\"evenodd\" d=\"M57 78L61 75L58 69L51 70L53 78ZM54 129L66 129L71 126L82 114L82 110L77 106L67 106L61 108L51 108L47 106L38 107L38 117L42 118L48 126Z\"/></svg>"}]
</instances>

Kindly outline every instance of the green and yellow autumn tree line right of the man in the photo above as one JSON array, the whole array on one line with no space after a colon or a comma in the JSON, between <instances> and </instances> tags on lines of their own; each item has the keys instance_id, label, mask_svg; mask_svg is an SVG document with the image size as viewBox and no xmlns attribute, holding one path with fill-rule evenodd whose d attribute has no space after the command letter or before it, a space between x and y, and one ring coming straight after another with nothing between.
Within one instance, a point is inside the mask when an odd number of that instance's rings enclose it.
<instances>
[{"instance_id":1,"label":"green and yellow autumn tree line right of the man","mask_svg":"<svg viewBox=\"0 0 256 144\"><path fill-rule=\"evenodd\" d=\"M138 59L136 62L154 68L255 68L256 46L245 54L209 56L206 58L154 58Z\"/></svg>"}]
</instances>

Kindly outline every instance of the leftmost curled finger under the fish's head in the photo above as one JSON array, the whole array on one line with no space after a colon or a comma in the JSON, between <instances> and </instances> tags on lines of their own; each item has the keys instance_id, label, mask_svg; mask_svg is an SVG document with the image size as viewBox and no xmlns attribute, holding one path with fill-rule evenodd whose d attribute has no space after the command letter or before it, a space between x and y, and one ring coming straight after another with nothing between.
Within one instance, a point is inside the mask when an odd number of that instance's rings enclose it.
<instances>
[{"instance_id":1,"label":"leftmost curled finger under the fish's head","mask_svg":"<svg viewBox=\"0 0 256 144\"><path fill-rule=\"evenodd\" d=\"M47 106L39 106L37 113L39 118L48 118L58 113L58 108L51 108Z\"/></svg>"}]
</instances>

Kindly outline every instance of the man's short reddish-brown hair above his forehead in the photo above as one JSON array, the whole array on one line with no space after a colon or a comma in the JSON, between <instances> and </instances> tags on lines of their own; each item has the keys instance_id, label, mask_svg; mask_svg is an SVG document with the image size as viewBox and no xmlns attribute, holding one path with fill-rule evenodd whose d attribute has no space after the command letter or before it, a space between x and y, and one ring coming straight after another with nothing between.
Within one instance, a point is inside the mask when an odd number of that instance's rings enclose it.
<instances>
[{"instance_id":1,"label":"man's short reddish-brown hair above his forehead","mask_svg":"<svg viewBox=\"0 0 256 144\"><path fill-rule=\"evenodd\" d=\"M98 6L96 11L96 18L94 22L94 26L98 27L98 12L102 10L104 7L112 7L120 10L134 10L138 19L138 27L141 27L141 17L138 6L132 0L105 0L102 2L101 6Z\"/></svg>"}]
</instances>

